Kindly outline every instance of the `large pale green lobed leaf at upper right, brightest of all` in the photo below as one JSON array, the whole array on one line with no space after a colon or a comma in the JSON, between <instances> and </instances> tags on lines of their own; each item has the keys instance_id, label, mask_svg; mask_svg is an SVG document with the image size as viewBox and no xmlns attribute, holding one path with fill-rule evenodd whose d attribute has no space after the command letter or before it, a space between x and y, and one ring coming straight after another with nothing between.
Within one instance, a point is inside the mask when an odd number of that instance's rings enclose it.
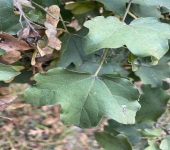
<instances>
[{"instance_id":1,"label":"large pale green lobed leaf at upper right, brightest of all","mask_svg":"<svg viewBox=\"0 0 170 150\"><path fill-rule=\"evenodd\" d=\"M160 59L169 48L170 26L156 18L138 18L126 25L116 17L99 16L87 21L84 26L90 30L83 38L86 54L126 44L138 57L154 56Z\"/></svg>"}]
</instances>

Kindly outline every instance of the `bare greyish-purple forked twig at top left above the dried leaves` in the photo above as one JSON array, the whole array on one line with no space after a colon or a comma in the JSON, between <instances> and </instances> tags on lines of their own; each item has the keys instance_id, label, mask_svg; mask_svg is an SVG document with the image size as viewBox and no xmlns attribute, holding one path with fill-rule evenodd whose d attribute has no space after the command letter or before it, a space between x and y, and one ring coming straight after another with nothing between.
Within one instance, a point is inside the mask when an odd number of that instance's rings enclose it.
<instances>
[{"instance_id":1,"label":"bare greyish-purple forked twig at top left above the dried leaves","mask_svg":"<svg viewBox=\"0 0 170 150\"><path fill-rule=\"evenodd\" d=\"M37 37L41 37L41 36L39 35L39 33L34 29L34 27L30 24L29 20L28 20L27 17L25 16L25 13L24 13L23 10L21 9L18 1L17 1L17 0L14 0L14 3L15 3L15 5L17 6L17 8L18 8L18 10L19 10L19 12L20 12L19 22L20 22L20 24L21 24L22 29L23 29L23 25L22 25L22 20L21 20L21 19L22 19L22 17L23 17L23 18L25 19L27 25L29 25L29 27L32 29L32 31L35 33L35 35L36 35Z\"/></svg>"}]
</instances>

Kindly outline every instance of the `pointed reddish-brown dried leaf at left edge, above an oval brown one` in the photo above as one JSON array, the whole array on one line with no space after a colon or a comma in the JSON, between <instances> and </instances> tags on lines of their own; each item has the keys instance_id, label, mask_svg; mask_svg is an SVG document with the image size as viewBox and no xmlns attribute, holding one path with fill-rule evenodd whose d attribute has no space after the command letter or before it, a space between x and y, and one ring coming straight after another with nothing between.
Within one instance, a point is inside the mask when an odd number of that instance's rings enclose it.
<instances>
[{"instance_id":1,"label":"pointed reddish-brown dried leaf at left edge, above an oval brown one","mask_svg":"<svg viewBox=\"0 0 170 150\"><path fill-rule=\"evenodd\" d=\"M9 35L7 33L2 33L0 34L0 48L5 50L6 52L8 51L13 51L13 50L29 50L32 49L26 42L22 40L17 40L14 38L12 35Z\"/></svg>"}]
</instances>

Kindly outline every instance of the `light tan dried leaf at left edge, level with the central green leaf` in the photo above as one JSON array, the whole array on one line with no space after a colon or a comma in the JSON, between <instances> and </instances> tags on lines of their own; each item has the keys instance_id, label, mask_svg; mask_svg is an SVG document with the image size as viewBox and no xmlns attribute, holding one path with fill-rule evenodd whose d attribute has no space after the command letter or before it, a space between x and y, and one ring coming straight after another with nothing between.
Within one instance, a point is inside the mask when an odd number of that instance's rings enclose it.
<instances>
[{"instance_id":1,"label":"light tan dried leaf at left edge, level with the central green leaf","mask_svg":"<svg viewBox=\"0 0 170 150\"><path fill-rule=\"evenodd\" d=\"M17 95L0 96L0 111L6 109L17 97Z\"/></svg>"}]
</instances>

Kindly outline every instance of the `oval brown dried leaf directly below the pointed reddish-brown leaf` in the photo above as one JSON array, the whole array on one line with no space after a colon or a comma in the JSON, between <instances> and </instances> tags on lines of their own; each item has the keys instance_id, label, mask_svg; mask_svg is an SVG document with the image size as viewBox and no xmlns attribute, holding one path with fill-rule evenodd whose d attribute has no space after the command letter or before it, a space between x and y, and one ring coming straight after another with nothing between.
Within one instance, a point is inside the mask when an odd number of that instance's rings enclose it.
<instances>
[{"instance_id":1,"label":"oval brown dried leaf directly below the pointed reddish-brown leaf","mask_svg":"<svg viewBox=\"0 0 170 150\"><path fill-rule=\"evenodd\" d=\"M0 62L5 65L10 65L14 62L17 62L20 58L21 53L19 51L9 51L1 56Z\"/></svg>"}]
</instances>

